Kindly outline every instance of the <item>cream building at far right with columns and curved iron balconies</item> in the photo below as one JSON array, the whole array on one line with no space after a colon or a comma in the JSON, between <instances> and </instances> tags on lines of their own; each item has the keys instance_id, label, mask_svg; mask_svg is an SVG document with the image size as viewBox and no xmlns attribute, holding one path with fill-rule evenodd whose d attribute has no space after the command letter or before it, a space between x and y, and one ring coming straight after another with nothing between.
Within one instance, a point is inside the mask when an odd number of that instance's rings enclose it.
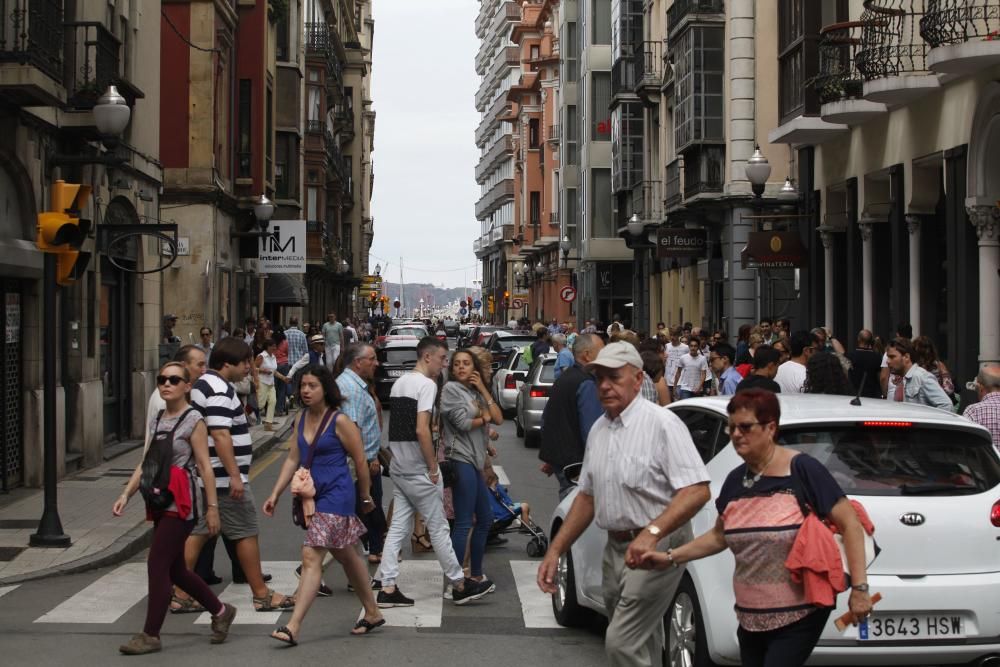
<instances>
[{"instance_id":1,"label":"cream building at far right with columns and curved iron balconies","mask_svg":"<svg viewBox=\"0 0 1000 667\"><path fill-rule=\"evenodd\" d=\"M771 132L811 177L817 319L844 339L910 322L971 378L1000 359L996 3L822 4L779 4Z\"/></svg>"}]
</instances>

